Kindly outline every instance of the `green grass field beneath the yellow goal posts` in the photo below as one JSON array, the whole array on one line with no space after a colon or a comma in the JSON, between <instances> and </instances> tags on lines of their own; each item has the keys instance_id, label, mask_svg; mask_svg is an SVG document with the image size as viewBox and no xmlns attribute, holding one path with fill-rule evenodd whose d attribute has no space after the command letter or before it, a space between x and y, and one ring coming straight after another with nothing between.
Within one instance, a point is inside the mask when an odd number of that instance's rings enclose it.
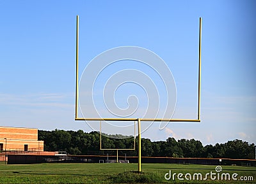
<instances>
[{"instance_id":1,"label":"green grass field beneath the yellow goal posts","mask_svg":"<svg viewBox=\"0 0 256 184\"><path fill-rule=\"evenodd\" d=\"M222 166L222 172L237 173L237 181L207 180L198 181L177 179L177 174L217 173L216 166L183 164L142 164L142 174L131 171L138 169L138 164L30 164L4 165L0 163L0 183L256 183L256 167ZM165 180L164 174L171 170L175 180ZM167 175L169 176L169 175ZM217 176L217 175L216 175ZM241 181L241 176L253 176L253 181ZM167 177L168 178L168 177ZM189 178L189 175L188 175ZM221 178L221 177L220 177ZM250 178L252 180L252 178Z\"/></svg>"}]
</instances>

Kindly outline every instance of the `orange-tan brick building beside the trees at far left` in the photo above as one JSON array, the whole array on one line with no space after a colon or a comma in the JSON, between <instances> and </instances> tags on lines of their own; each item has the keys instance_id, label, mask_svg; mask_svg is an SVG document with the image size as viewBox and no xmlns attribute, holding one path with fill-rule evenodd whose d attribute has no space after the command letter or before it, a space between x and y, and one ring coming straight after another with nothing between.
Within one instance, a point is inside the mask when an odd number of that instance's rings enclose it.
<instances>
[{"instance_id":1,"label":"orange-tan brick building beside the trees at far left","mask_svg":"<svg viewBox=\"0 0 256 184\"><path fill-rule=\"evenodd\" d=\"M44 141L38 141L38 129L0 126L1 151L44 152Z\"/></svg>"}]
</instances>

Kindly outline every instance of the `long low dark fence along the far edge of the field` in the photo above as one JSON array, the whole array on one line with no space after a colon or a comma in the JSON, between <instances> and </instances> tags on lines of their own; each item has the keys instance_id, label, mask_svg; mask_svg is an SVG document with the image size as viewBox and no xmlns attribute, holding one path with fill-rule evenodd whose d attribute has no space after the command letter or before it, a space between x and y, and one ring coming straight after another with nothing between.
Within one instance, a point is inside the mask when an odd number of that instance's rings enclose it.
<instances>
[{"instance_id":1,"label":"long low dark fence along the far edge of the field","mask_svg":"<svg viewBox=\"0 0 256 184\"><path fill-rule=\"evenodd\" d=\"M118 157L125 160L125 157ZM70 163L99 163L100 160L115 160L116 156L106 155L8 155L8 164L33 164L47 162L70 162ZM138 157L126 157L130 163L138 163ZM51 160L51 161L50 161ZM102 161L101 161L102 162ZM207 159L207 158L173 158L173 157L141 157L142 163L168 163L168 164L205 164L205 165L237 165L256 166L256 160L249 159Z\"/></svg>"}]
</instances>

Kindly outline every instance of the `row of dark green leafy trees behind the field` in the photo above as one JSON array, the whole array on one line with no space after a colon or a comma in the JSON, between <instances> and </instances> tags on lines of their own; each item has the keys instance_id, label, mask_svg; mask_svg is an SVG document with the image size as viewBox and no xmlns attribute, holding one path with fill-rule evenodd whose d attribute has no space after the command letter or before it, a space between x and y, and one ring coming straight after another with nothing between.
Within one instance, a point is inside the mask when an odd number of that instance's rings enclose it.
<instances>
[{"instance_id":1,"label":"row of dark green leafy trees behind the field","mask_svg":"<svg viewBox=\"0 0 256 184\"><path fill-rule=\"evenodd\" d=\"M112 137L122 137L115 135ZM38 139L44 140L45 151L65 151L72 155L115 155L113 150L100 150L99 132L79 131L38 131ZM135 139L136 150L123 150L119 155L136 156L138 138ZM134 148L134 138L115 139L102 136L102 148ZM141 155L146 157L204 157L255 159L255 145L246 141L234 140L224 144L203 146L195 139L168 138L166 141L141 139Z\"/></svg>"}]
</instances>

